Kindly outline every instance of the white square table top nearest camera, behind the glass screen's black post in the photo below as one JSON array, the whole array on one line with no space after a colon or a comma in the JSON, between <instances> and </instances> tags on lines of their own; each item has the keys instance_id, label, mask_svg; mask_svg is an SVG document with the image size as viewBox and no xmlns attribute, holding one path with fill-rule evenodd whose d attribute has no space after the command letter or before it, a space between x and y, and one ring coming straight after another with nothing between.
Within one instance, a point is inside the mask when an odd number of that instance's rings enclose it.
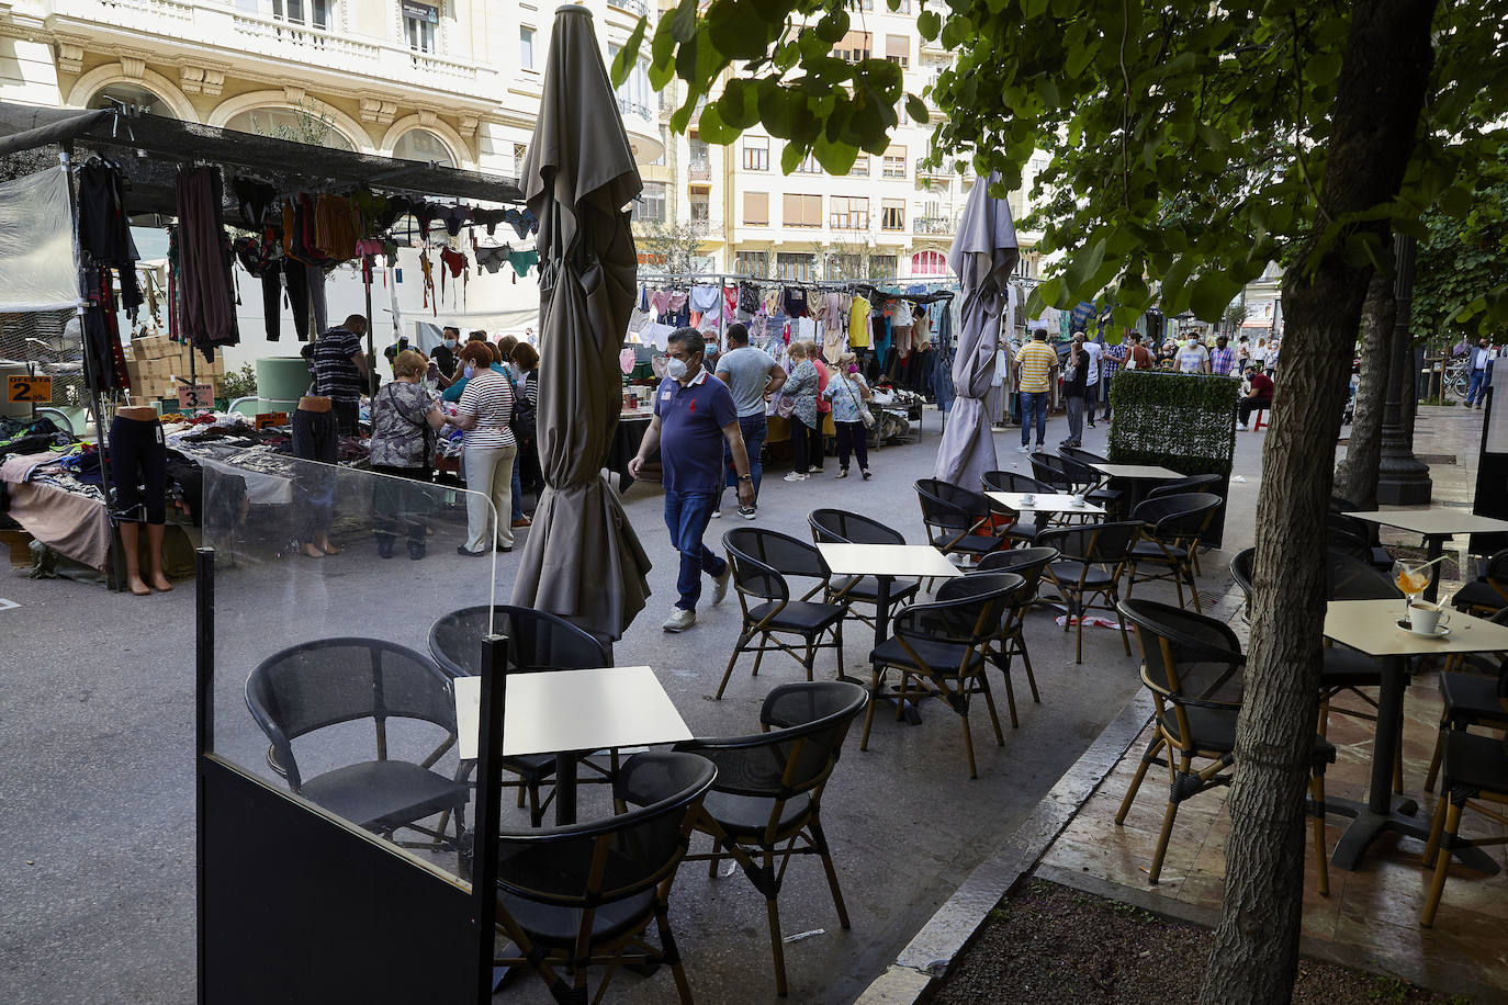
<instances>
[{"instance_id":1,"label":"white square table top nearest camera, behind the glass screen's black post","mask_svg":"<svg viewBox=\"0 0 1508 1005\"><path fill-rule=\"evenodd\" d=\"M454 686L460 756L474 759L481 678L458 677ZM508 675L502 708L505 758L680 740L691 740L691 729L647 666Z\"/></svg>"}]
</instances>

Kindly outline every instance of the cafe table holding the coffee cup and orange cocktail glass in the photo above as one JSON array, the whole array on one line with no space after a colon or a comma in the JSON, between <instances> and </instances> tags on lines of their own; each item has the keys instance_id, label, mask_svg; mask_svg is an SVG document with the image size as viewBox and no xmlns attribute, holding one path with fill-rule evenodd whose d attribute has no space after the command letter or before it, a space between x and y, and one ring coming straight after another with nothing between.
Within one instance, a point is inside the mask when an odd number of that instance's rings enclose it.
<instances>
[{"instance_id":1,"label":"cafe table holding the coffee cup and orange cocktail glass","mask_svg":"<svg viewBox=\"0 0 1508 1005\"><path fill-rule=\"evenodd\" d=\"M1356 820L1336 844L1332 862L1342 869L1356 869L1377 835L1384 830L1427 841L1430 821L1416 818L1418 803L1401 799L1393 803L1393 756L1402 741L1402 704L1407 683L1405 663L1411 655L1448 655L1452 652L1496 652L1508 649L1508 627L1481 618L1452 613L1449 633L1430 639L1398 627L1404 615L1401 600L1333 600L1326 606L1324 634L1351 646L1383 666L1381 690L1377 699L1377 732L1372 741L1372 774L1366 803L1356 806ZM1329 803L1327 802L1327 809ZM1350 812L1341 808L1341 812ZM1457 847L1454 854L1467 866L1496 872L1497 865L1475 847Z\"/></svg>"}]
</instances>

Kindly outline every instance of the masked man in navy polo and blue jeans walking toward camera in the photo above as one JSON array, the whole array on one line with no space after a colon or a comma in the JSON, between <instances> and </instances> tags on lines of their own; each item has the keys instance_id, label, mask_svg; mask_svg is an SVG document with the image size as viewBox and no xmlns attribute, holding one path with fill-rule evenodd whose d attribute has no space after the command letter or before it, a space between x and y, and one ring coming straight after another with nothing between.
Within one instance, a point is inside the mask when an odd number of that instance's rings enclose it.
<instances>
[{"instance_id":1,"label":"masked man in navy polo and blue jeans walking toward camera","mask_svg":"<svg viewBox=\"0 0 1508 1005\"><path fill-rule=\"evenodd\" d=\"M728 592L728 564L701 541L722 494L724 441L737 472L739 505L754 505L754 478L739 429L739 410L727 384L707 380L703 350L701 333L695 328L671 333L665 380L654 392L654 417L638 455L629 461L629 475L639 478L654 448L661 448L665 526L680 553L680 576L676 580L680 600L662 625L665 631L685 631L697 624L703 573L715 582L712 603L721 603Z\"/></svg>"}]
</instances>

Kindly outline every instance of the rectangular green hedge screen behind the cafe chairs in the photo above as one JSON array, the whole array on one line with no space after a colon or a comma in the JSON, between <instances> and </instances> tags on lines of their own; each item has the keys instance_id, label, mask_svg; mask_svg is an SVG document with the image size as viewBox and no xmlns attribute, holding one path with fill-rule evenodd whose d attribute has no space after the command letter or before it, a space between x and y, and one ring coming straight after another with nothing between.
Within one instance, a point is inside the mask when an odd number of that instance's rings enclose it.
<instances>
[{"instance_id":1,"label":"rectangular green hedge screen behind the cafe chairs","mask_svg":"<svg viewBox=\"0 0 1508 1005\"><path fill-rule=\"evenodd\" d=\"M1110 383L1110 461L1229 475L1240 398L1234 377L1123 369Z\"/></svg>"}]
</instances>

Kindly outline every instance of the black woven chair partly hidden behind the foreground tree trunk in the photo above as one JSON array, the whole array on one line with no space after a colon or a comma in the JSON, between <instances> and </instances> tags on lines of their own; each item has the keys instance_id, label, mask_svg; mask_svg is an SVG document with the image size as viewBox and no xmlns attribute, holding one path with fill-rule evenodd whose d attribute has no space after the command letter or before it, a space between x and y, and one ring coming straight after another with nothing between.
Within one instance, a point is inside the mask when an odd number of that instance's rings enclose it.
<instances>
[{"instance_id":1,"label":"black woven chair partly hidden behind the foreground tree trunk","mask_svg":"<svg viewBox=\"0 0 1508 1005\"><path fill-rule=\"evenodd\" d=\"M1142 779L1152 764L1167 765L1167 809L1148 880L1157 883L1167 856L1178 806L1217 785L1229 785L1235 762L1235 720L1241 708L1246 657L1229 625L1205 615L1149 600L1120 601L1120 619L1136 628L1142 646L1142 683L1157 705L1155 734L1137 765L1116 824L1125 823ZM1163 759L1166 756L1166 759ZM1309 764L1309 812L1313 818L1315 869L1321 894L1330 892L1324 845L1324 773L1335 747L1315 737ZM1194 761L1209 761L1196 767Z\"/></svg>"}]
</instances>

